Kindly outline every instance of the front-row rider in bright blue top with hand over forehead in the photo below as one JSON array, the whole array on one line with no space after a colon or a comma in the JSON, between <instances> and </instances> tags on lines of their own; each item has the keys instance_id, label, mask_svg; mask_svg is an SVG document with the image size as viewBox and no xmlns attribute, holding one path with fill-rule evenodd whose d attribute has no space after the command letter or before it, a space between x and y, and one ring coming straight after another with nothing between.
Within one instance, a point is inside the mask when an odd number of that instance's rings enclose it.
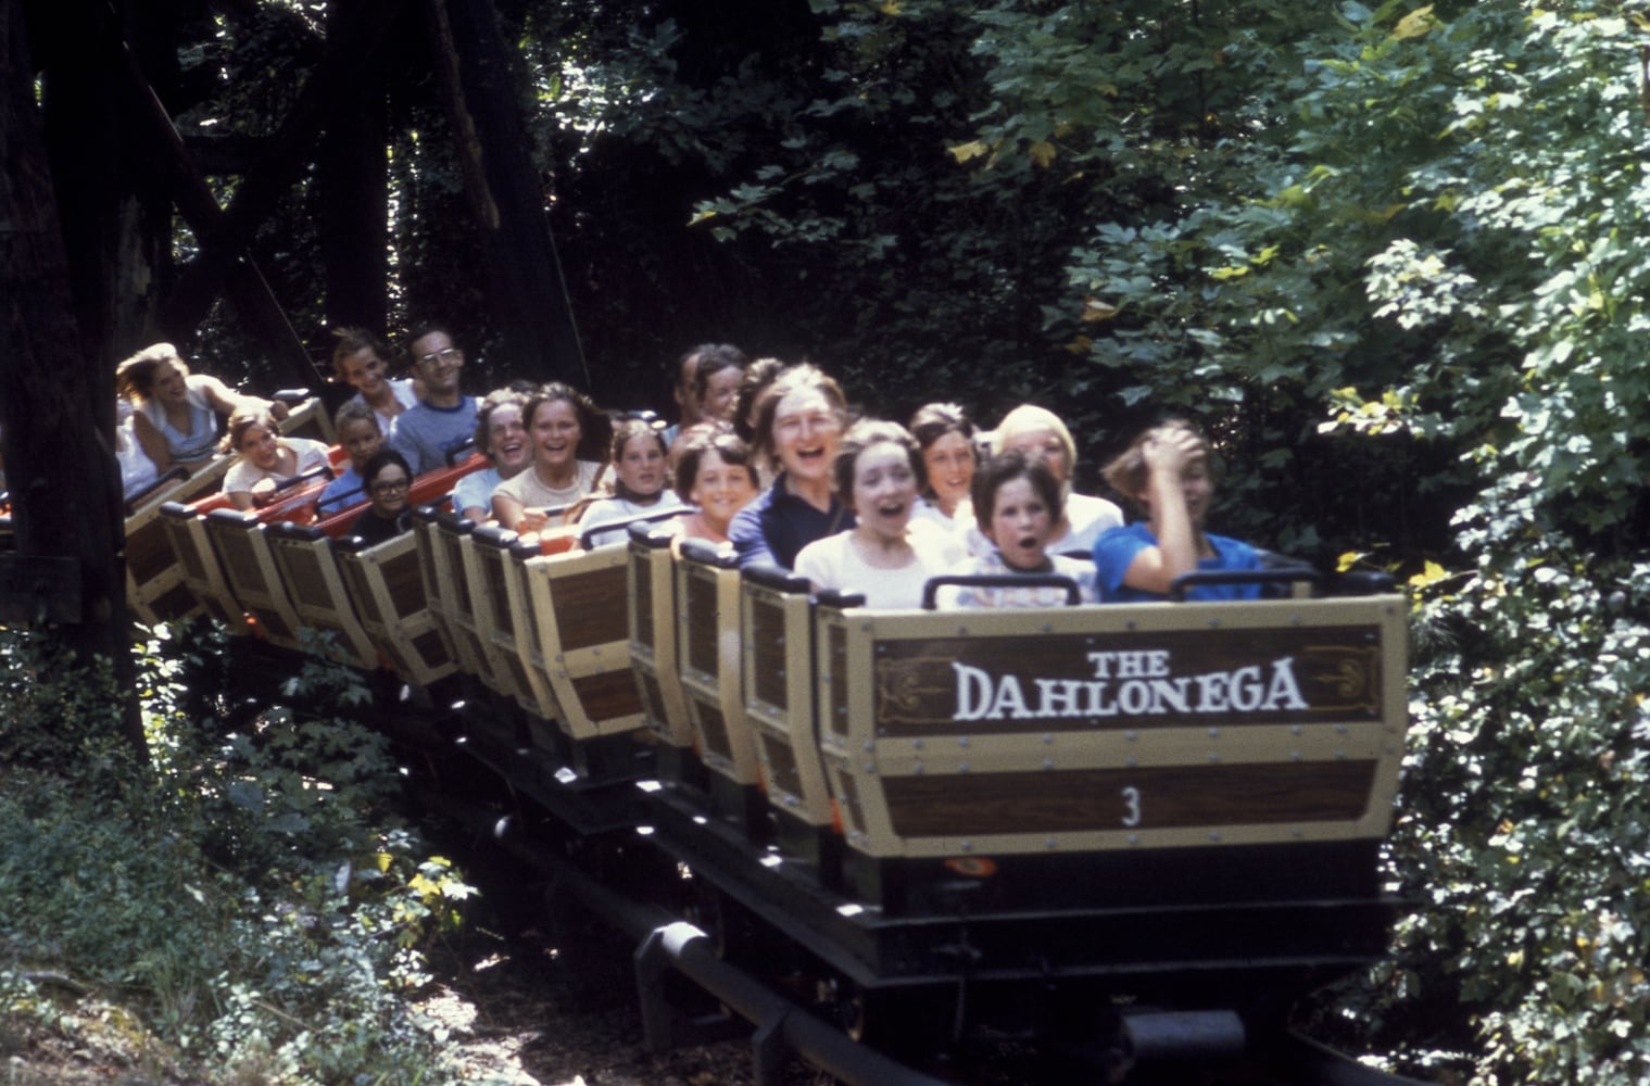
<instances>
[{"instance_id":1,"label":"front-row rider in bright blue top with hand over forehead","mask_svg":"<svg viewBox=\"0 0 1650 1086\"><path fill-rule=\"evenodd\" d=\"M1094 543L1101 599L1163 599L1175 578L1195 569L1257 569L1256 550L1208 535L1203 520L1214 498L1209 442L1185 421L1148 429L1107 464L1106 482L1137 502L1145 523L1106 531ZM1188 599L1256 599L1259 584L1200 584Z\"/></svg>"}]
</instances>

